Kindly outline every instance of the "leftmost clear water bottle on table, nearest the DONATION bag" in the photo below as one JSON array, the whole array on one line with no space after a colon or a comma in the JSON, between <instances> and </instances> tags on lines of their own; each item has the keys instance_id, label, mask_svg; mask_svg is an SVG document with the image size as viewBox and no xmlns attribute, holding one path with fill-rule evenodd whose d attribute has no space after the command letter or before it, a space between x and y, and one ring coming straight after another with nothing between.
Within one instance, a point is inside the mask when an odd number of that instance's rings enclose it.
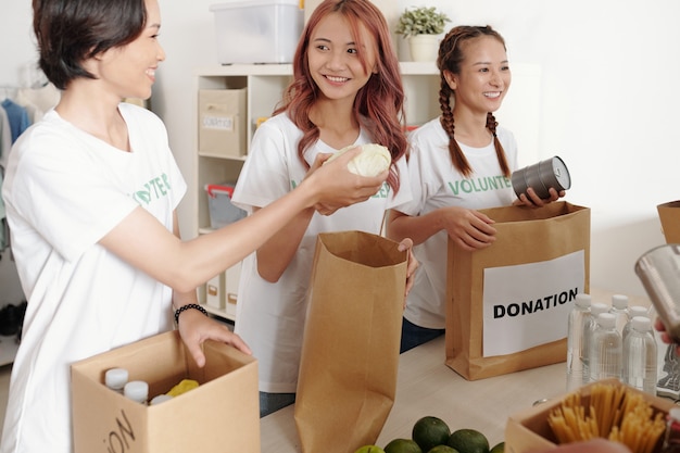
<instances>
[{"instance_id":1,"label":"leftmost clear water bottle on table, nearest the DONATION bag","mask_svg":"<svg viewBox=\"0 0 680 453\"><path fill-rule=\"evenodd\" d=\"M585 334L590 326L590 294L578 293L567 323L567 391L588 383L588 347Z\"/></svg>"}]
</instances>

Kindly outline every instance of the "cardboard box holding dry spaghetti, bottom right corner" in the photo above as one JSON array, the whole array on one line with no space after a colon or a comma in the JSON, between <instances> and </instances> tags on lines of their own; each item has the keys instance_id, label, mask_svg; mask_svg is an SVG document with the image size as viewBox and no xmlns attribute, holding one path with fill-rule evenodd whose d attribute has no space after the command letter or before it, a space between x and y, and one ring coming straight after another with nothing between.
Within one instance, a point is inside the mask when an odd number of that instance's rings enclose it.
<instances>
[{"instance_id":1,"label":"cardboard box holding dry spaghetti, bottom right corner","mask_svg":"<svg viewBox=\"0 0 680 453\"><path fill-rule=\"evenodd\" d=\"M617 379L606 379L600 382L607 382L615 386L624 386ZM588 404L590 391L594 383L581 387L578 391L581 393L582 403ZM667 414L675 406L673 402L668 399L653 397L643 393L633 388L629 391L641 393L655 411ZM562 404L562 401L568 393L554 398L543 404L532 406L526 411L513 414L505 425L505 452L506 453L534 453L537 451L545 451L555 448L557 439L553 435L552 428L547 424L549 414ZM663 435L662 435L663 436Z\"/></svg>"}]
</instances>

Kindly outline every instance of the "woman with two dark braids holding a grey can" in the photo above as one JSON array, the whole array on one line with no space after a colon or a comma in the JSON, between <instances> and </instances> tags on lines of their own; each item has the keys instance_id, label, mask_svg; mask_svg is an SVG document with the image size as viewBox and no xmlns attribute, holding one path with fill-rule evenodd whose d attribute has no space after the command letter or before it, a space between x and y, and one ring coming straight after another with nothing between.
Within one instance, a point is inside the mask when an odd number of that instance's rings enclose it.
<instances>
[{"instance_id":1,"label":"woman with two dark braids holding a grey can","mask_svg":"<svg viewBox=\"0 0 680 453\"><path fill-rule=\"evenodd\" d=\"M519 199L513 191L517 144L493 116L512 78L503 37L491 26L456 26L441 41L437 65L442 113L410 135L413 200L388 219L388 236L413 239L420 263L404 311L402 352L444 332L448 238L468 251L493 243L493 221L476 210L543 206L564 197L553 188L545 200L531 188Z\"/></svg>"}]
</instances>

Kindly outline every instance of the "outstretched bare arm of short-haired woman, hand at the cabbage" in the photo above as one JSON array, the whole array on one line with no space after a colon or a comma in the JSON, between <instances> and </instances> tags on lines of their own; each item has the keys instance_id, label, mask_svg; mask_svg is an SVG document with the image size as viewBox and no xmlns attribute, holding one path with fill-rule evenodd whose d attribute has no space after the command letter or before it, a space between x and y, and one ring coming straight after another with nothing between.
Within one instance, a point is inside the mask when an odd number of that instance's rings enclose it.
<instances>
[{"instance_id":1,"label":"outstretched bare arm of short-haired woman, hand at the cabbage","mask_svg":"<svg viewBox=\"0 0 680 453\"><path fill-rule=\"evenodd\" d=\"M356 152L324 165L253 215L196 239L180 240L137 207L99 243L174 290L191 291L256 250L299 212L322 201L349 205L375 194L388 173L373 178L350 173L347 164Z\"/></svg>"}]
</instances>

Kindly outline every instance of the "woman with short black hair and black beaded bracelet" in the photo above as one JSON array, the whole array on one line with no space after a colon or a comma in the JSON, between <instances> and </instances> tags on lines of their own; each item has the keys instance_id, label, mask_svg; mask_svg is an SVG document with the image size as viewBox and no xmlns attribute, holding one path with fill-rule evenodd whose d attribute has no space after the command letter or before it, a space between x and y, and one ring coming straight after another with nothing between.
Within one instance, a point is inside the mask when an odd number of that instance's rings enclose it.
<instances>
[{"instance_id":1,"label":"woman with short black hair and black beaded bracelet","mask_svg":"<svg viewBox=\"0 0 680 453\"><path fill-rule=\"evenodd\" d=\"M373 178L319 168L276 203L182 241L186 192L147 99L165 53L156 0L34 0L40 67L63 90L11 150L2 196L28 304L0 451L70 453L70 365L173 329L198 366L207 340L250 349L205 316L196 288L257 249L297 213L373 197ZM329 207L327 212L332 212Z\"/></svg>"}]
</instances>

